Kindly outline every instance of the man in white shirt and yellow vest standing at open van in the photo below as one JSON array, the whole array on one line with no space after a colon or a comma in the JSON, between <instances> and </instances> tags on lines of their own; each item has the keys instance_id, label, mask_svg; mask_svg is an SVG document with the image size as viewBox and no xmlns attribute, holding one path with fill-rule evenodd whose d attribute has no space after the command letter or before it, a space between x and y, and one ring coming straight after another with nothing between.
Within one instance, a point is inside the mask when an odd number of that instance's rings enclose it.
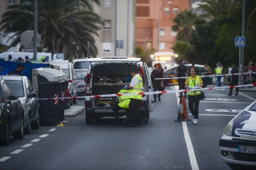
<instances>
[{"instance_id":1,"label":"man in white shirt and yellow vest standing at open van","mask_svg":"<svg viewBox=\"0 0 256 170\"><path fill-rule=\"evenodd\" d=\"M132 81L129 86L125 85L124 89L129 89L129 93L141 93L143 81L141 76L138 74L137 69L131 70ZM146 122L146 118L139 113L139 108L141 106L142 95L131 95L130 96L129 109L130 113L134 118L131 127L137 127L137 125L141 126Z\"/></svg>"}]
</instances>

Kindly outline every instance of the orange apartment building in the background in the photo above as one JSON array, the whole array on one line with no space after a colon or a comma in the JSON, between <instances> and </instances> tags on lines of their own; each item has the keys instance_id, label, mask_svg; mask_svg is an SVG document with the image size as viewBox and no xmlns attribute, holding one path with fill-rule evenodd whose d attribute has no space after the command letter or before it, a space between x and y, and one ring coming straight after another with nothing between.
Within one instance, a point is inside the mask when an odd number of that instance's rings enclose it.
<instances>
[{"instance_id":1,"label":"orange apartment building in the background","mask_svg":"<svg viewBox=\"0 0 256 170\"><path fill-rule=\"evenodd\" d=\"M144 50L154 48L156 51L173 51L176 42L175 31L171 27L176 15L190 7L189 0L137 0L136 2L136 38L135 47ZM158 19L159 18L159 19ZM158 21L159 30L158 30ZM158 50L159 34L159 50Z\"/></svg>"}]
</instances>

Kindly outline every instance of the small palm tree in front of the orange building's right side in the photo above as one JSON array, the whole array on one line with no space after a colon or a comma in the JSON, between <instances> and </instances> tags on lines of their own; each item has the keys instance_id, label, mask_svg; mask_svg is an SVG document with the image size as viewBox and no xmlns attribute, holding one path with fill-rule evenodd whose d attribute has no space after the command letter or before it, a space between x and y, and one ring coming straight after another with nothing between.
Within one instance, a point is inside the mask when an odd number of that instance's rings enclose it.
<instances>
[{"instance_id":1,"label":"small palm tree in front of the orange building's right side","mask_svg":"<svg viewBox=\"0 0 256 170\"><path fill-rule=\"evenodd\" d=\"M189 41L195 20L196 14L191 10L184 10L174 18L173 22L176 25L172 26L172 30L179 31L177 40Z\"/></svg>"}]
</instances>

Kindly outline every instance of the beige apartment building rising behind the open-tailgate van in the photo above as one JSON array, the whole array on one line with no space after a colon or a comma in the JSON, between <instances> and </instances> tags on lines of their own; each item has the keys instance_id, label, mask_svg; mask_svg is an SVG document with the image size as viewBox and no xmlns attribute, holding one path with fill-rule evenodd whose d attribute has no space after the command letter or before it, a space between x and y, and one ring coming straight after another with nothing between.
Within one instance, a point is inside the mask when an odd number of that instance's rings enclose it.
<instances>
[{"instance_id":1,"label":"beige apartment building rising behind the open-tailgate van","mask_svg":"<svg viewBox=\"0 0 256 170\"><path fill-rule=\"evenodd\" d=\"M94 12L101 16L104 26L94 35L97 57L132 56L135 45L136 0L100 0Z\"/></svg>"}]
</instances>

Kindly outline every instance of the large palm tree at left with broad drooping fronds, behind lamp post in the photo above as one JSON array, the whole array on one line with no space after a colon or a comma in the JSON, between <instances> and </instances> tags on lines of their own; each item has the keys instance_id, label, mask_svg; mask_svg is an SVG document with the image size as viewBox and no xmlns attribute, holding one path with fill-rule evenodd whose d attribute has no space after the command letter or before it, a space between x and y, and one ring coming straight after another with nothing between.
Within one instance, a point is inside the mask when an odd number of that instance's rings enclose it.
<instances>
[{"instance_id":1,"label":"large palm tree at left with broad drooping fronds, behind lamp post","mask_svg":"<svg viewBox=\"0 0 256 170\"><path fill-rule=\"evenodd\" d=\"M100 4L99 0L93 0ZM17 45L20 35L26 30L33 30L34 0L24 0L21 4L8 7L2 15L1 30L5 34L15 33ZM98 53L92 34L103 24L100 16L93 13L89 0L40 0L38 1L38 33L42 37L43 47L53 53L65 52L65 58L81 58L87 53Z\"/></svg>"}]
</instances>

